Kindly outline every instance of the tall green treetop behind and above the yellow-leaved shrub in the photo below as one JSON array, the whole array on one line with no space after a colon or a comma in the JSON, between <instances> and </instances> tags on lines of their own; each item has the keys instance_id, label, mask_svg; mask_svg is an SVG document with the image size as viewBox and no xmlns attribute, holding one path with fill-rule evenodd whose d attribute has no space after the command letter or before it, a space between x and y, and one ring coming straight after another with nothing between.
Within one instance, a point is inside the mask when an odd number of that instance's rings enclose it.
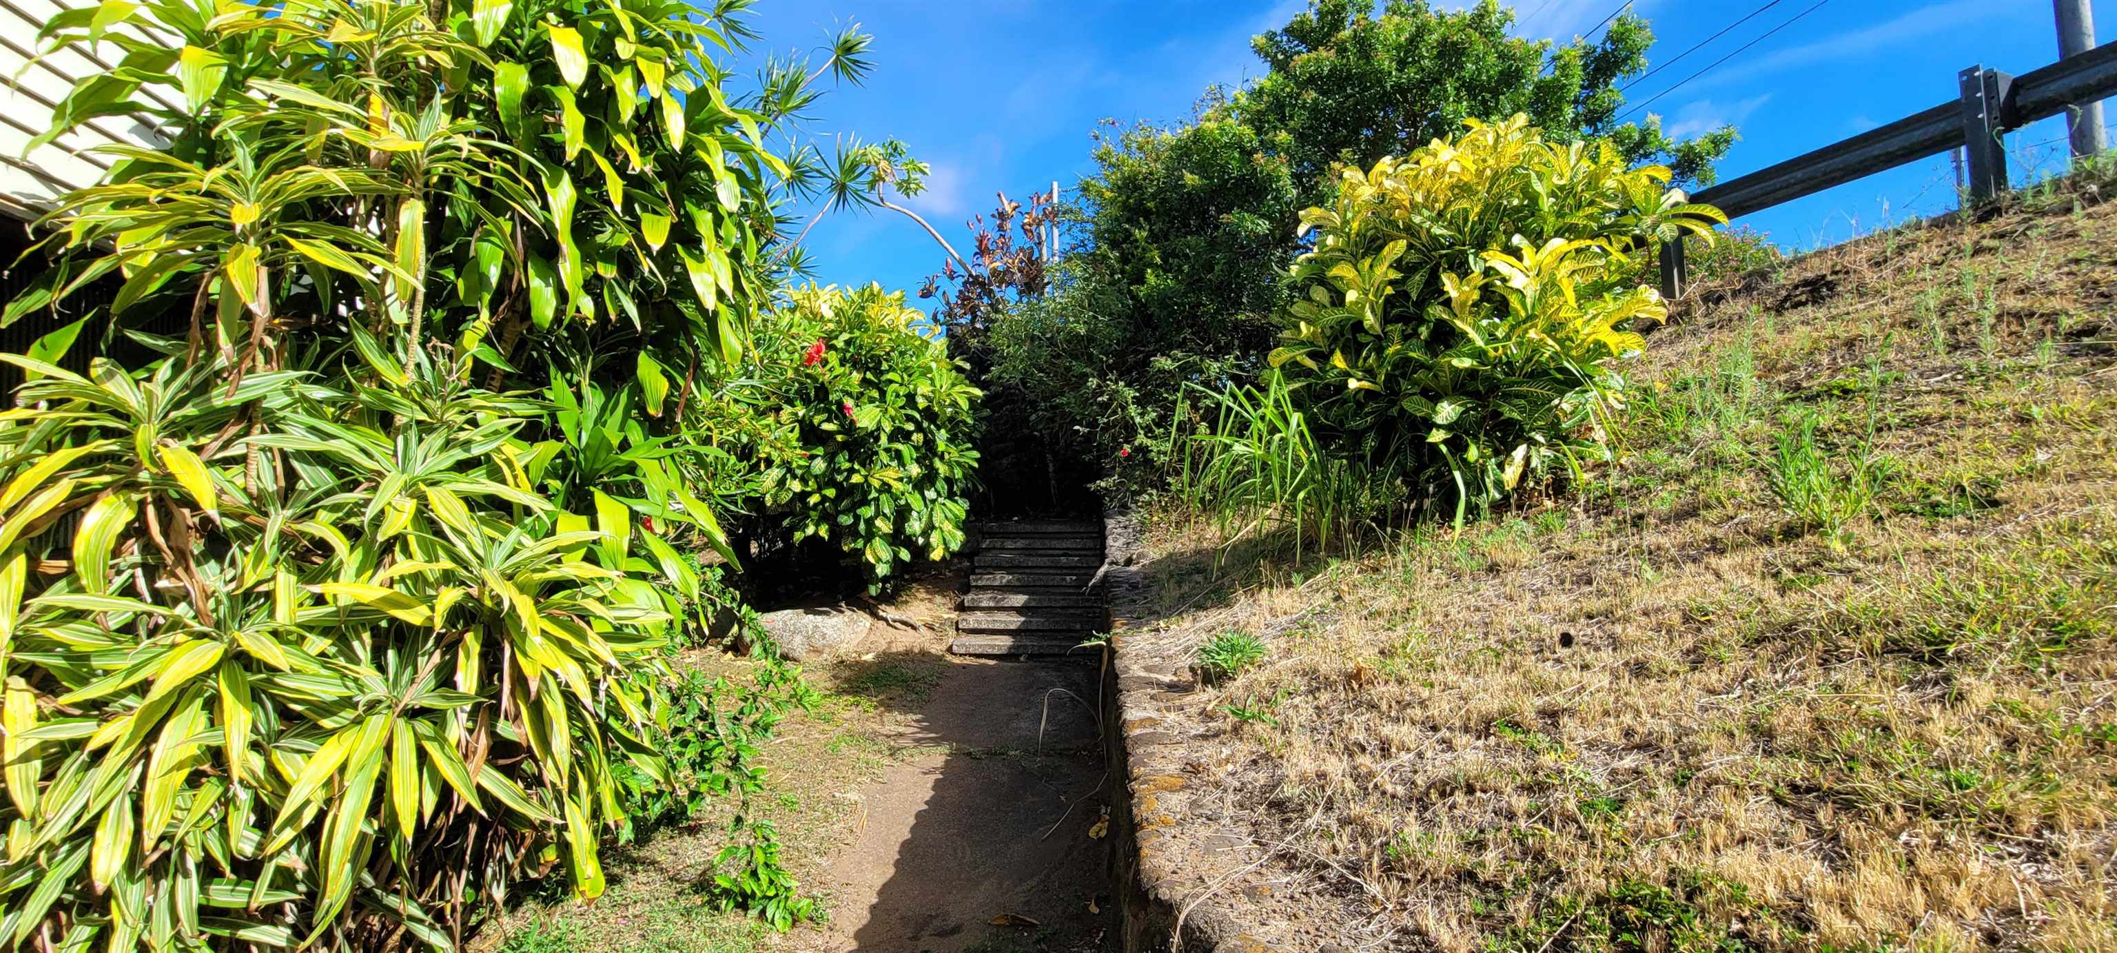
<instances>
[{"instance_id":1,"label":"tall green treetop behind and above the yellow-leaved shrub","mask_svg":"<svg viewBox=\"0 0 2117 953\"><path fill-rule=\"evenodd\" d=\"M1251 47L1270 68L1232 95L1226 112L1266 136L1293 165L1302 201L1321 201L1336 163L1370 167L1431 140L1450 140L1465 119L1516 112L1552 142L1609 140L1632 165L1662 163L1677 180L1711 182L1734 127L1672 140L1658 116L1617 123L1617 85L1647 68L1653 32L1624 13L1594 42L1509 36L1514 11L1480 0L1435 11L1427 0L1315 0Z\"/></svg>"}]
</instances>

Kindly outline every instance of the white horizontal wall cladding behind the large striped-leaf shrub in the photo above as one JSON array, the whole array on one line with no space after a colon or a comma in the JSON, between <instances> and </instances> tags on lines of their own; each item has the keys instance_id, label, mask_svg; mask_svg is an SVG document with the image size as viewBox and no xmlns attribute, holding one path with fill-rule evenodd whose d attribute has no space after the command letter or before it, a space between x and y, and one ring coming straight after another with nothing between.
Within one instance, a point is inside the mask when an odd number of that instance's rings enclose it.
<instances>
[{"instance_id":1,"label":"white horizontal wall cladding behind the large striped-leaf shrub","mask_svg":"<svg viewBox=\"0 0 2117 953\"><path fill-rule=\"evenodd\" d=\"M110 157L93 155L91 148L114 142L159 142L150 116L102 116L23 152L32 138L51 127L51 110L66 100L76 80L114 70L123 57L123 51L108 42L40 57L38 30L70 6L95 6L95 0L0 0L0 76L13 80L0 83L0 212L15 218L34 218L68 188L95 184L110 169ZM116 30L165 47L176 44L171 36L159 32L131 25ZM144 95L167 108L182 106L167 89L146 89Z\"/></svg>"}]
</instances>

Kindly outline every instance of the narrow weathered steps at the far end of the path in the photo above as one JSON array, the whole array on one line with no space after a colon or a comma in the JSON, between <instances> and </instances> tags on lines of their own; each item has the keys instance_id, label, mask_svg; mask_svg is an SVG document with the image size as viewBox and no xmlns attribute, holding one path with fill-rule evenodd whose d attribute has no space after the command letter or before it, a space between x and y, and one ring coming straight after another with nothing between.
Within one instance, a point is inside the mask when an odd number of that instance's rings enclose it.
<instances>
[{"instance_id":1,"label":"narrow weathered steps at the far end of the path","mask_svg":"<svg viewBox=\"0 0 2117 953\"><path fill-rule=\"evenodd\" d=\"M978 525L970 593L955 621L955 654L1078 654L1109 629L1109 608L1088 591L1103 565L1103 523L1016 519Z\"/></svg>"}]
</instances>

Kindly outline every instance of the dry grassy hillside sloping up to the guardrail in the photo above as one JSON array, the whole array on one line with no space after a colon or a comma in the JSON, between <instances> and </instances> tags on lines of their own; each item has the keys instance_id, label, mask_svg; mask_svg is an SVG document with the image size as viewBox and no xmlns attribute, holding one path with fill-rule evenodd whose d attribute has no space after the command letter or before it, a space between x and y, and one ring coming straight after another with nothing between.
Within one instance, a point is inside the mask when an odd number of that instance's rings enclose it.
<instances>
[{"instance_id":1,"label":"dry grassy hillside sloping up to the guardrail","mask_svg":"<svg viewBox=\"0 0 2117 953\"><path fill-rule=\"evenodd\" d=\"M1186 703L1198 864L1296 949L2117 949L2100 188L1706 290L1622 462L1461 536L1164 519L1156 625L1266 650Z\"/></svg>"}]
</instances>

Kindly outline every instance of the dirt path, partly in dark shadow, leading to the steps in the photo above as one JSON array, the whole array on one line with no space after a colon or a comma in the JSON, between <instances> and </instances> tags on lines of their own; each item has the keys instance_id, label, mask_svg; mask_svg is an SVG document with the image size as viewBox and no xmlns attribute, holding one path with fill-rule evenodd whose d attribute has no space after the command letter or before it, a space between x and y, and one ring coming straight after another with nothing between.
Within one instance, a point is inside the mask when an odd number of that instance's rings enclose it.
<instances>
[{"instance_id":1,"label":"dirt path, partly in dark shadow, leading to the steps","mask_svg":"<svg viewBox=\"0 0 2117 953\"><path fill-rule=\"evenodd\" d=\"M1116 949L1094 665L955 659L908 633L881 648L862 678L912 690L879 693L898 754L826 862L817 949Z\"/></svg>"}]
</instances>

